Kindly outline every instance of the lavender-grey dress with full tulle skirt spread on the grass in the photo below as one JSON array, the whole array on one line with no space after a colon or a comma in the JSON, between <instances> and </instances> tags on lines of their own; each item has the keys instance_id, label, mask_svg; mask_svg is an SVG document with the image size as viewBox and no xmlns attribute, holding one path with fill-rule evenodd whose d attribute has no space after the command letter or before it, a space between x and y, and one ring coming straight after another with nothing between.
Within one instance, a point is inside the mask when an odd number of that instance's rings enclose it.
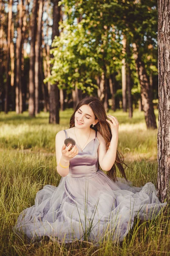
<instances>
[{"instance_id":1,"label":"lavender-grey dress with full tulle skirt spread on the grass","mask_svg":"<svg viewBox=\"0 0 170 256\"><path fill-rule=\"evenodd\" d=\"M16 233L32 241L42 236L59 243L122 241L135 216L148 220L161 212L166 203L160 203L153 183L139 188L121 178L113 182L98 169L98 147L95 137L70 160L57 187L45 185L37 192L35 205L17 219Z\"/></svg>"}]
</instances>

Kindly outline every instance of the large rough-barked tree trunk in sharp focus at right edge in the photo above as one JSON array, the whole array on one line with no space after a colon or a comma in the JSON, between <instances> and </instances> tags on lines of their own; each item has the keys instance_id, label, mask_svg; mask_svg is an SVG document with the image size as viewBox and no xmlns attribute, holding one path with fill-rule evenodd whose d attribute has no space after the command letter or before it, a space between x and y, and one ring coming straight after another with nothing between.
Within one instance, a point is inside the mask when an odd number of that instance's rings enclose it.
<instances>
[{"instance_id":1,"label":"large rough-barked tree trunk in sharp focus at right edge","mask_svg":"<svg viewBox=\"0 0 170 256\"><path fill-rule=\"evenodd\" d=\"M157 188L161 202L170 199L170 8L158 1L159 128Z\"/></svg>"}]
</instances>

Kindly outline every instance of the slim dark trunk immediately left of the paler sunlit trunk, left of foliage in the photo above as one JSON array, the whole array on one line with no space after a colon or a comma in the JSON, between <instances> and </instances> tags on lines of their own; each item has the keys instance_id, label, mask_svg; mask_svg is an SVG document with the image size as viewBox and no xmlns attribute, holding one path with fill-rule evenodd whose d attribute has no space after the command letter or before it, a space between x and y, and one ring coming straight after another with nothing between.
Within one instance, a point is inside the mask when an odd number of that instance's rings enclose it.
<instances>
[{"instance_id":1,"label":"slim dark trunk immediately left of the paler sunlit trunk, left of foliage","mask_svg":"<svg viewBox=\"0 0 170 256\"><path fill-rule=\"evenodd\" d=\"M38 0L33 1L31 17L30 68L29 68L29 116L35 116L35 39L37 31Z\"/></svg>"}]
</instances>

